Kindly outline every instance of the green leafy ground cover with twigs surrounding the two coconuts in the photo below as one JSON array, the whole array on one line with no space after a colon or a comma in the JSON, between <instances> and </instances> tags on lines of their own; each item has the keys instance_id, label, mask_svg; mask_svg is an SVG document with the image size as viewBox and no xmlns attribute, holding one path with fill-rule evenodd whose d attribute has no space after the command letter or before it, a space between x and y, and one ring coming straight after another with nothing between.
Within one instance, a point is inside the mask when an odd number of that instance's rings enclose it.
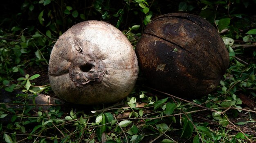
<instances>
[{"instance_id":1,"label":"green leafy ground cover with twigs surrounding the two coconuts","mask_svg":"<svg viewBox=\"0 0 256 143\"><path fill-rule=\"evenodd\" d=\"M8 6L16 8L9 11ZM9 1L0 28L0 142L253 143L256 142L256 1ZM136 45L153 17L200 15L229 51L229 69L213 93L181 99L144 85L113 104L81 106L55 99L47 76L58 36L84 20L110 22ZM51 100L38 103L38 97Z\"/></svg>"}]
</instances>

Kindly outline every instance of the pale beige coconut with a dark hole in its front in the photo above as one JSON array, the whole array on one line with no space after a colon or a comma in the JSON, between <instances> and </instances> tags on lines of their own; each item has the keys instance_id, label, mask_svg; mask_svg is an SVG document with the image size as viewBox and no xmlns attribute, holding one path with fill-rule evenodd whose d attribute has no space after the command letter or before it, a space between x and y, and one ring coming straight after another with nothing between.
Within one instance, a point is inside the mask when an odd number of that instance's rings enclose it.
<instances>
[{"instance_id":1,"label":"pale beige coconut with a dark hole in its front","mask_svg":"<svg viewBox=\"0 0 256 143\"><path fill-rule=\"evenodd\" d=\"M117 102L132 91L137 74L137 57L126 36L95 20L63 33L49 60L54 93L76 104Z\"/></svg>"}]
</instances>

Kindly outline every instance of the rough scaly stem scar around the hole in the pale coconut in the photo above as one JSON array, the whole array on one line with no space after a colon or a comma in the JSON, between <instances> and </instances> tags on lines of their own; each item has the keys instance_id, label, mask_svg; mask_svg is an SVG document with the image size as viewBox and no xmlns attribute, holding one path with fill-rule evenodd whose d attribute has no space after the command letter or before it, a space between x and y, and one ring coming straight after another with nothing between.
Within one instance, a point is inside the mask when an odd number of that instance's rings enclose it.
<instances>
[{"instance_id":1,"label":"rough scaly stem scar around the hole in the pale coconut","mask_svg":"<svg viewBox=\"0 0 256 143\"><path fill-rule=\"evenodd\" d=\"M69 69L71 80L78 87L99 84L106 74L106 65L94 53L77 54Z\"/></svg>"}]
</instances>

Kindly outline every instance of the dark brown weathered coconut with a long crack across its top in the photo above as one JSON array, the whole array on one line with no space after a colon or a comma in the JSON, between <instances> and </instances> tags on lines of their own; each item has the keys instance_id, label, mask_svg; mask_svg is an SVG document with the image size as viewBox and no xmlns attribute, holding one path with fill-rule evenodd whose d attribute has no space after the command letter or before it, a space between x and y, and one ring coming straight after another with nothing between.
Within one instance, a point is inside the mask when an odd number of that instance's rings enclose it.
<instances>
[{"instance_id":1,"label":"dark brown weathered coconut with a long crack across its top","mask_svg":"<svg viewBox=\"0 0 256 143\"><path fill-rule=\"evenodd\" d=\"M202 17L186 13L152 20L136 52L150 87L182 97L216 89L229 65L217 30Z\"/></svg>"}]
</instances>

